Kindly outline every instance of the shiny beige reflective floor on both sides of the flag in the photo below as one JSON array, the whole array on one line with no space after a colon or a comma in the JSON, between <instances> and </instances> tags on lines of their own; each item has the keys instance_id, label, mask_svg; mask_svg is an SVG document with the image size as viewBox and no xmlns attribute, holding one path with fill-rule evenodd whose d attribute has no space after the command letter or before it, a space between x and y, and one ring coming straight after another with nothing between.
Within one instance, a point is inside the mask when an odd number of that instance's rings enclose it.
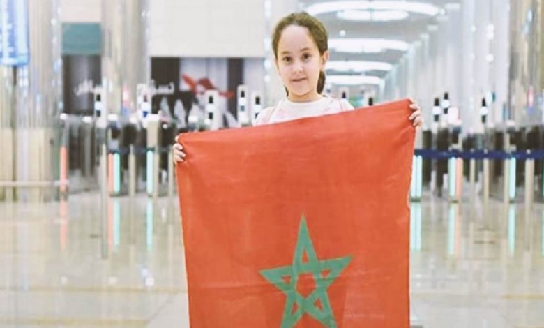
<instances>
[{"instance_id":1,"label":"shiny beige reflective floor on both sides of the flag","mask_svg":"<svg viewBox=\"0 0 544 328\"><path fill-rule=\"evenodd\" d=\"M0 203L0 327L188 327L176 200ZM105 238L101 238L101 236ZM544 205L411 207L413 327L544 327Z\"/></svg>"}]
</instances>

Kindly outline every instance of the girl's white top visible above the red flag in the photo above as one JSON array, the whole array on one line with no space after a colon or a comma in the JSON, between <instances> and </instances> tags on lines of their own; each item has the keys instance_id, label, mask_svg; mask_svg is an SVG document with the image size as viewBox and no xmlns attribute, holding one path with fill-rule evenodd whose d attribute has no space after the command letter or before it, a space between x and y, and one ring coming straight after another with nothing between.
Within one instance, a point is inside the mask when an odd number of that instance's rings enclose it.
<instances>
[{"instance_id":1,"label":"girl's white top visible above the red flag","mask_svg":"<svg viewBox=\"0 0 544 328\"><path fill-rule=\"evenodd\" d=\"M278 105L267 107L259 113L255 119L255 125L279 123L302 119L305 117L317 117L326 114L336 114L353 110L354 107L345 99L335 99L323 96L315 101L307 103L294 103L287 98L280 100Z\"/></svg>"}]
</instances>

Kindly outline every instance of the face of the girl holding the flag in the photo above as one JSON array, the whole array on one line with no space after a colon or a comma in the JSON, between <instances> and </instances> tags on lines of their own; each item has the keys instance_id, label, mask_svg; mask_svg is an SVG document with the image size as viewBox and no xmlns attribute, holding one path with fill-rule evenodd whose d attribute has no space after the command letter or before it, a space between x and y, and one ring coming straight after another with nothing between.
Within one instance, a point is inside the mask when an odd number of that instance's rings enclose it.
<instances>
[{"instance_id":1,"label":"face of the girl holding the flag","mask_svg":"<svg viewBox=\"0 0 544 328\"><path fill-rule=\"evenodd\" d=\"M319 99L317 80L328 60L328 51L319 54L306 27L289 25L278 42L276 66L289 100L305 102Z\"/></svg>"}]
</instances>

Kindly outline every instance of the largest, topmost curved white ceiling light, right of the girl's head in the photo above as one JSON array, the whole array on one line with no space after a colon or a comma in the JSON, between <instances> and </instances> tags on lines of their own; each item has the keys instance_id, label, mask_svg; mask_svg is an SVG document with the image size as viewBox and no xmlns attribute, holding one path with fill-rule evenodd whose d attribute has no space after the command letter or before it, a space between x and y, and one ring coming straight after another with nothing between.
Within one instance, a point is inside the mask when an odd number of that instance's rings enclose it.
<instances>
[{"instance_id":1,"label":"largest, topmost curved white ceiling light, right of the girl's head","mask_svg":"<svg viewBox=\"0 0 544 328\"><path fill-rule=\"evenodd\" d=\"M331 1L308 6L305 11L310 15L321 15L342 10L403 10L428 16L436 16L440 11L429 3L411 1Z\"/></svg>"}]
</instances>

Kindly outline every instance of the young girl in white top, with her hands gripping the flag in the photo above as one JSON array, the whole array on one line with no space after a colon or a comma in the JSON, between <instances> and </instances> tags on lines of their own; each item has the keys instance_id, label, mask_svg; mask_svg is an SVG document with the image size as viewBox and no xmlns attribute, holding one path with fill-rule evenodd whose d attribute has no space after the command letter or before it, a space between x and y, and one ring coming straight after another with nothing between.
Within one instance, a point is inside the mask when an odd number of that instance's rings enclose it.
<instances>
[{"instance_id":1,"label":"young girl in white top, with her hands gripping the flag","mask_svg":"<svg viewBox=\"0 0 544 328\"><path fill-rule=\"evenodd\" d=\"M307 13L292 13L282 18L274 29L272 47L287 98L263 110L256 119L257 126L354 109L346 100L322 95L328 36L319 20ZM409 119L414 126L421 126L419 106L412 103L410 107L414 112ZM186 157L183 146L176 142L173 150L174 161L183 161Z\"/></svg>"}]
</instances>

